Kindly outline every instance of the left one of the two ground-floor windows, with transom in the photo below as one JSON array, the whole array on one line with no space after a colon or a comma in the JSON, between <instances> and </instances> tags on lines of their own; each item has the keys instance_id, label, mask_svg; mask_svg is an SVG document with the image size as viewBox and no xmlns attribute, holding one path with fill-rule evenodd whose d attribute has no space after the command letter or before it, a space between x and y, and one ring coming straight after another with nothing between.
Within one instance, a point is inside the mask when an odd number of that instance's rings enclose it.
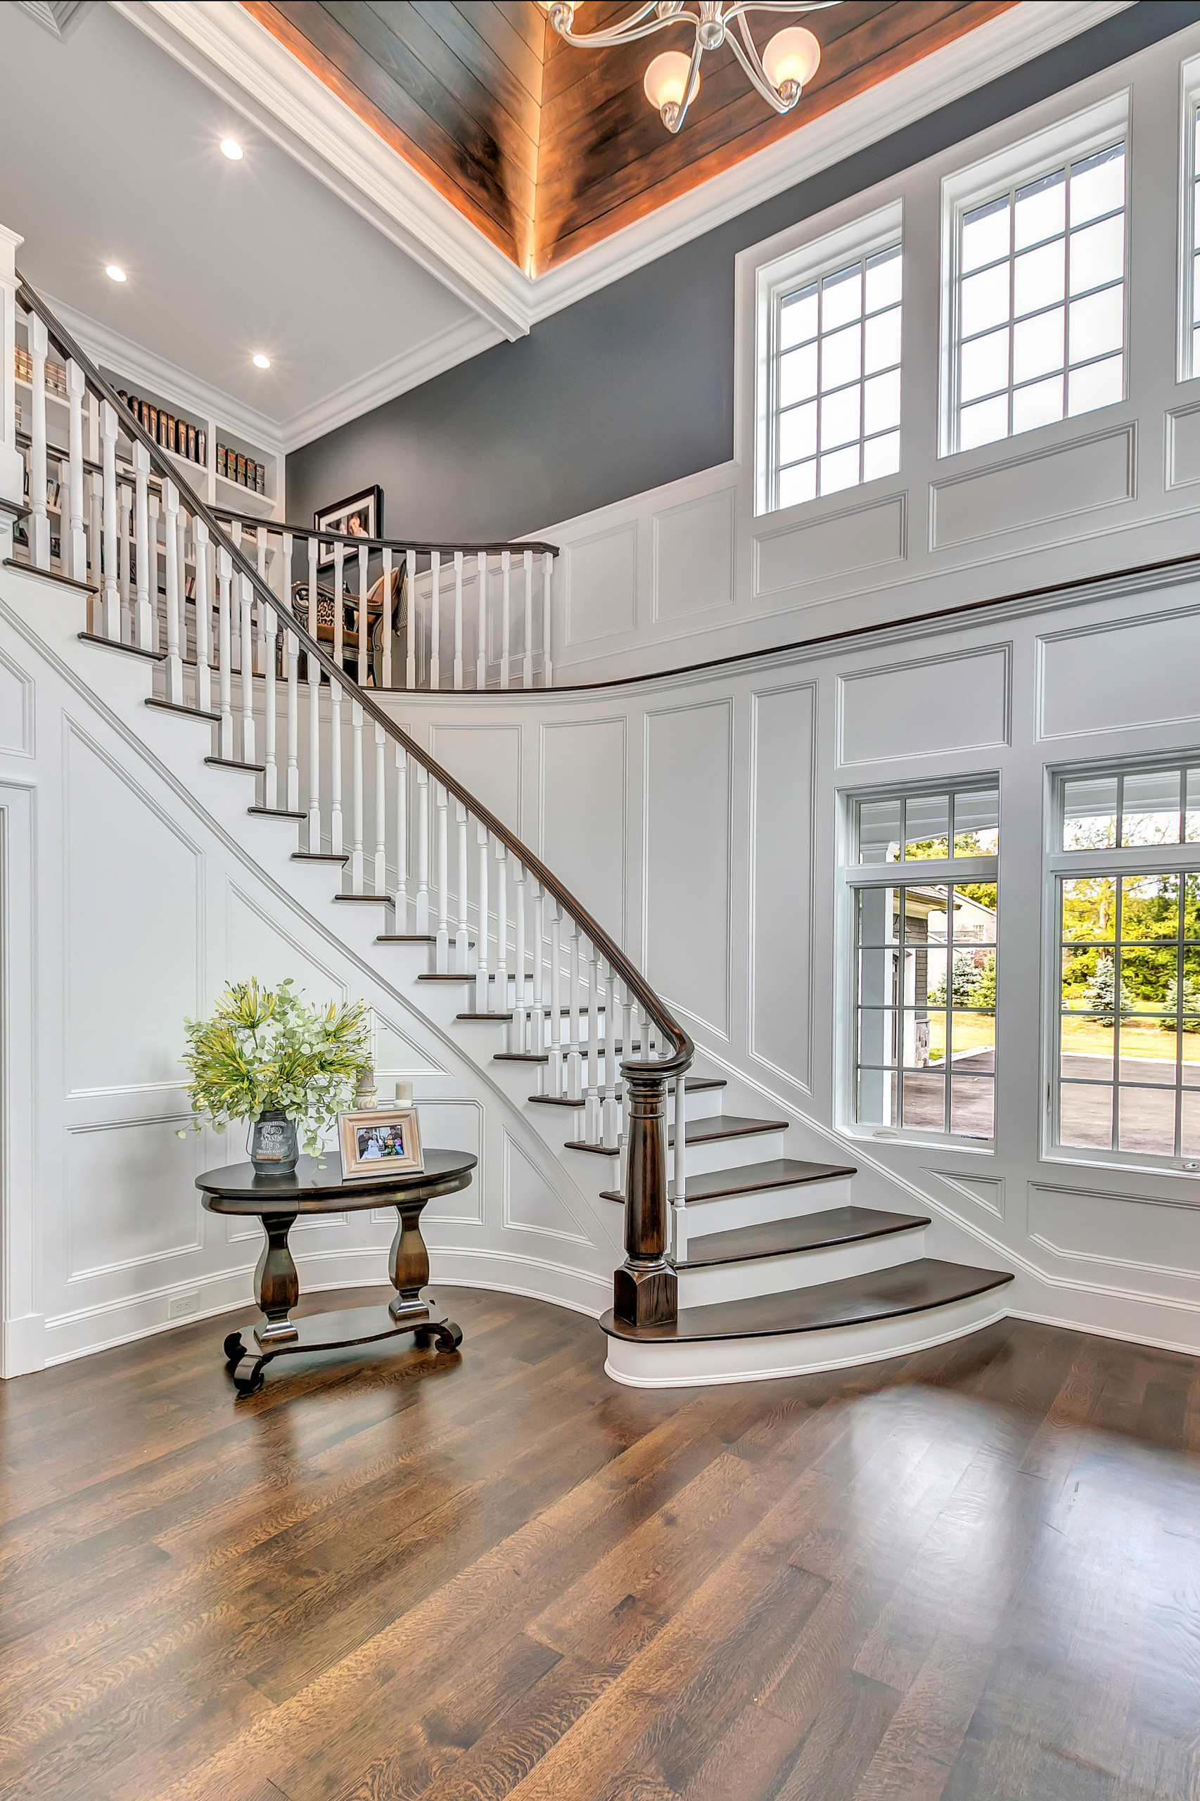
<instances>
[{"instance_id":1,"label":"left one of the two ground-floor windows, with transom","mask_svg":"<svg viewBox=\"0 0 1200 1801\"><path fill-rule=\"evenodd\" d=\"M989 1140L996 1082L996 859L989 785L852 801L852 1117L868 1131Z\"/></svg>"}]
</instances>

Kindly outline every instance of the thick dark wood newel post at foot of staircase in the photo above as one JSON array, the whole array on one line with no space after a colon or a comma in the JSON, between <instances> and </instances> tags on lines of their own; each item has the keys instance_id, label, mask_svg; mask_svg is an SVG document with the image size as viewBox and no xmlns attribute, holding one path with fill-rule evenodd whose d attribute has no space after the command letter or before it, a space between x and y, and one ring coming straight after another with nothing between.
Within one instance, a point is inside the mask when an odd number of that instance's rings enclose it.
<instances>
[{"instance_id":1,"label":"thick dark wood newel post at foot of staircase","mask_svg":"<svg viewBox=\"0 0 1200 1801\"><path fill-rule=\"evenodd\" d=\"M667 1261L667 1077L625 1068L629 1100L629 1180L625 1263L613 1277L613 1315L625 1326L667 1326L677 1318L679 1284Z\"/></svg>"}]
</instances>

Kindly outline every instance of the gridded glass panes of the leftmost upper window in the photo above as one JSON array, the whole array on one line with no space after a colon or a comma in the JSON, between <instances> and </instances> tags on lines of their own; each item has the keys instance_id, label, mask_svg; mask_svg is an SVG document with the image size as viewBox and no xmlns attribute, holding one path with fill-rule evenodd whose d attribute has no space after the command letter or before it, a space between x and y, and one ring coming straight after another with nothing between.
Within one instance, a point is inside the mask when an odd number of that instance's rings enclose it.
<instances>
[{"instance_id":1,"label":"gridded glass panes of the leftmost upper window","mask_svg":"<svg viewBox=\"0 0 1200 1801\"><path fill-rule=\"evenodd\" d=\"M777 294L769 510L899 468L901 245Z\"/></svg>"}]
</instances>

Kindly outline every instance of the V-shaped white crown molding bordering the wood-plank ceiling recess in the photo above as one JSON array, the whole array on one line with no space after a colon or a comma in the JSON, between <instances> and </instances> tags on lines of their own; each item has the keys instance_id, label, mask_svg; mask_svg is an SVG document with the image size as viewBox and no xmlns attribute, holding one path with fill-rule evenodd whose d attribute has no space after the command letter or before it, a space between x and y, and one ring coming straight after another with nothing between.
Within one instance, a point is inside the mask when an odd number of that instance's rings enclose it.
<instances>
[{"instance_id":1,"label":"V-shaped white crown molding bordering the wood-plank ceiling recess","mask_svg":"<svg viewBox=\"0 0 1200 1801\"><path fill-rule=\"evenodd\" d=\"M539 319L1123 13L1133 0L1022 0L537 277L523 274L241 5L114 4L483 319L515 339Z\"/></svg>"}]
</instances>

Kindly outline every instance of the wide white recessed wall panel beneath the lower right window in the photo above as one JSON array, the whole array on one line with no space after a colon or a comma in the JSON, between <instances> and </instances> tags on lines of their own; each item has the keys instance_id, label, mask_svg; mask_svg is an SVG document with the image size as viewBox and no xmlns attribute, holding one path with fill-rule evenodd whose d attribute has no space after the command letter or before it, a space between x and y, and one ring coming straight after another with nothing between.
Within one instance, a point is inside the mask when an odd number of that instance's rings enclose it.
<instances>
[{"instance_id":1,"label":"wide white recessed wall panel beneath the lower right window","mask_svg":"<svg viewBox=\"0 0 1200 1801\"><path fill-rule=\"evenodd\" d=\"M1029 1237L1054 1257L1175 1277L1184 1286L1200 1277L1200 1210L1195 1201L1031 1181L1027 1207Z\"/></svg>"}]
</instances>

